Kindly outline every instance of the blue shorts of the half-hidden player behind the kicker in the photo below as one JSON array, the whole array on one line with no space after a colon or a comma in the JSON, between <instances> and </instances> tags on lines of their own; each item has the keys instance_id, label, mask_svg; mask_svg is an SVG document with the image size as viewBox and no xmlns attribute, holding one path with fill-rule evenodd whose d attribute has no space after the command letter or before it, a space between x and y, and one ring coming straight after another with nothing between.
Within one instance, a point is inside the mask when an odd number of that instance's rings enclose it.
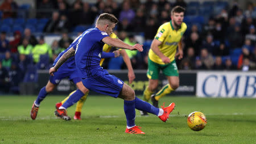
<instances>
[{"instance_id":1,"label":"blue shorts of the half-hidden player behind the kicker","mask_svg":"<svg viewBox=\"0 0 256 144\"><path fill-rule=\"evenodd\" d=\"M54 76L50 76L49 77L49 81L53 84L59 84L61 79L68 77L69 80L73 81L73 83L78 83L81 82L81 78L78 77L78 73L76 68L75 69L69 69L69 68L65 68L65 67L60 67L58 71L56 71L55 73L53 73Z\"/></svg>"}]
</instances>

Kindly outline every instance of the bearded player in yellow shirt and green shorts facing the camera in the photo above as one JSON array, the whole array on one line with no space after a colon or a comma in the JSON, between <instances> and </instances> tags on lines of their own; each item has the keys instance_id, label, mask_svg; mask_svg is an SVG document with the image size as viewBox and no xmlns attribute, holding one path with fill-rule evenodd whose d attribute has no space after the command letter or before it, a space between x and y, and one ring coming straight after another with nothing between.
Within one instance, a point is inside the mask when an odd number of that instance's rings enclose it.
<instances>
[{"instance_id":1,"label":"bearded player in yellow shirt and green shorts facing the camera","mask_svg":"<svg viewBox=\"0 0 256 144\"><path fill-rule=\"evenodd\" d=\"M152 41L148 52L148 86L143 92L144 101L152 100L155 107L158 107L158 100L164 95L179 87L179 73L175 62L175 57L183 58L183 50L181 47L181 37L187 29L187 25L183 23L185 9L176 6L171 11L171 21L162 24L158 28L155 39ZM176 49L177 53L176 53ZM158 87L159 71L168 79L168 84L155 93ZM141 112L141 115L147 115Z\"/></svg>"}]
</instances>

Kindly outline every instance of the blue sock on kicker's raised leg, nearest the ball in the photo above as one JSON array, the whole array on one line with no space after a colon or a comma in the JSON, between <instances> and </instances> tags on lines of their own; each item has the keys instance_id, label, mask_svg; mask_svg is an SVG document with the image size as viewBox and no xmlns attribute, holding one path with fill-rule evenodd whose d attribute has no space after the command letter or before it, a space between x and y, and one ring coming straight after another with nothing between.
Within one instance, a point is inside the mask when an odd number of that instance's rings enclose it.
<instances>
[{"instance_id":1,"label":"blue sock on kicker's raised leg, nearest the ball","mask_svg":"<svg viewBox=\"0 0 256 144\"><path fill-rule=\"evenodd\" d=\"M143 101L139 98L135 98L136 102L135 102L135 108L140 110L140 111L146 111L149 113L152 113L154 115L158 115L159 113L159 108L154 107L153 105L151 105L150 103L147 103L146 101Z\"/></svg>"}]
</instances>

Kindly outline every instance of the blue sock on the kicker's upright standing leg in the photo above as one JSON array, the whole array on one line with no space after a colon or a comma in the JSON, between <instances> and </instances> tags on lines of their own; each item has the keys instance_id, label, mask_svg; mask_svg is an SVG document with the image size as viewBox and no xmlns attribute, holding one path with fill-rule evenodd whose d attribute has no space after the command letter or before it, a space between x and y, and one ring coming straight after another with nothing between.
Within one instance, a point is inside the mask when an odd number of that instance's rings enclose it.
<instances>
[{"instance_id":1,"label":"blue sock on the kicker's upright standing leg","mask_svg":"<svg viewBox=\"0 0 256 144\"><path fill-rule=\"evenodd\" d=\"M125 110L127 126L135 126L135 100L125 100L123 109Z\"/></svg>"}]
</instances>

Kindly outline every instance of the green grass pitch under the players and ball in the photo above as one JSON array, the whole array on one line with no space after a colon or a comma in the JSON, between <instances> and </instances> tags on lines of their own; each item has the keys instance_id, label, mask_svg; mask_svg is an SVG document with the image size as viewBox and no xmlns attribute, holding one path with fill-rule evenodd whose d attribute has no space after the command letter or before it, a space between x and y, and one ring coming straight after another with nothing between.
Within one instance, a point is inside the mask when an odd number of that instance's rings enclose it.
<instances>
[{"instance_id":1,"label":"green grass pitch under the players and ball","mask_svg":"<svg viewBox=\"0 0 256 144\"><path fill-rule=\"evenodd\" d=\"M137 111L135 122L144 135L125 133L121 99L89 96L81 121L56 118L55 103L64 96L52 95L41 103L36 120L31 120L35 99L0 96L0 143L256 143L256 99L166 96L160 103L176 103L166 123L154 115L142 117ZM187 126L187 115L193 111L208 118L200 132ZM69 116L74 112L74 106L68 109Z\"/></svg>"}]
</instances>

